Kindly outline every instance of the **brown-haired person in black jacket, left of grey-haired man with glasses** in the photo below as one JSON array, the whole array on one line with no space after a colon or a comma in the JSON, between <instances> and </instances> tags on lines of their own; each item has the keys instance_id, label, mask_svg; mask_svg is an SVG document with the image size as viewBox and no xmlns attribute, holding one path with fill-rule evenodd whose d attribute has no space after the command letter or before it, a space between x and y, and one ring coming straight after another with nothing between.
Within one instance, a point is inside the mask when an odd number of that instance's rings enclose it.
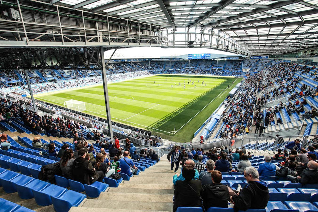
<instances>
[{"instance_id":1,"label":"brown-haired person in black jacket, left of grey-haired man with glasses","mask_svg":"<svg viewBox=\"0 0 318 212\"><path fill-rule=\"evenodd\" d=\"M229 199L229 189L221 183L222 173L214 170L211 173L212 183L203 186L203 205L205 211L211 207L227 208Z\"/></svg>"}]
</instances>

